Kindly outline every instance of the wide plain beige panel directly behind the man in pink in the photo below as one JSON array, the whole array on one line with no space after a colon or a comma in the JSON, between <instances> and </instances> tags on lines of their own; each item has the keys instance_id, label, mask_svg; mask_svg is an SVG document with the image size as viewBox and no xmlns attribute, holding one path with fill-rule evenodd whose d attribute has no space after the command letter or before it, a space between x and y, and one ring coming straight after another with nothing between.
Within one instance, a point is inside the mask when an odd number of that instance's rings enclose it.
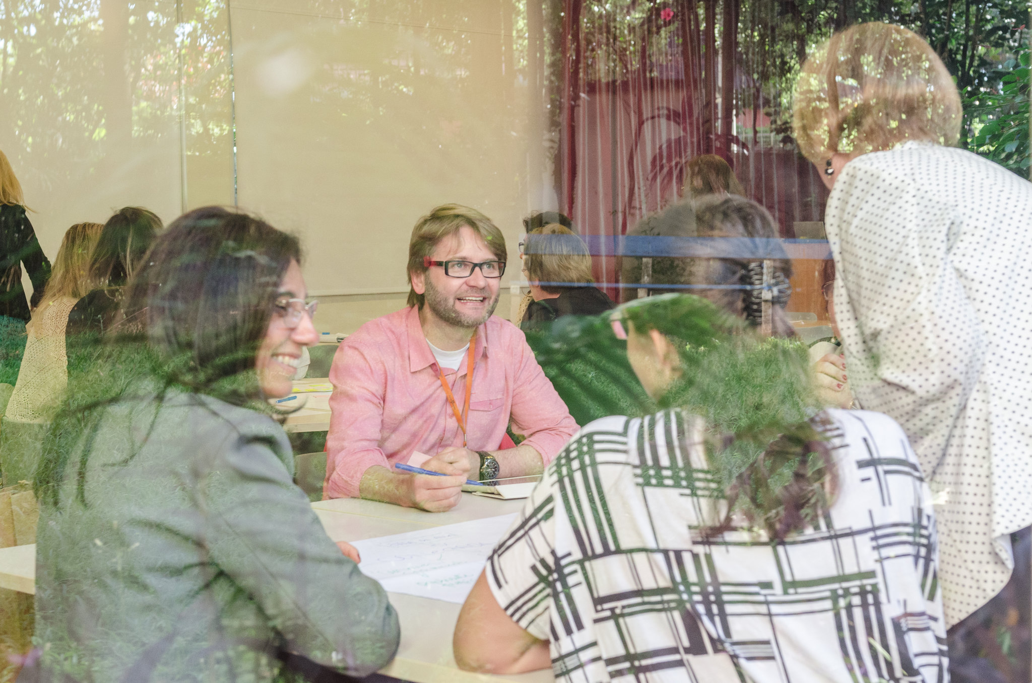
<instances>
[{"instance_id":1,"label":"wide plain beige panel directly behind the man in pink","mask_svg":"<svg viewBox=\"0 0 1032 683\"><path fill-rule=\"evenodd\" d=\"M489 215L515 251L529 103L512 3L352 6L232 3L240 205L304 237L323 298L404 287L412 226L445 202Z\"/></svg>"}]
</instances>

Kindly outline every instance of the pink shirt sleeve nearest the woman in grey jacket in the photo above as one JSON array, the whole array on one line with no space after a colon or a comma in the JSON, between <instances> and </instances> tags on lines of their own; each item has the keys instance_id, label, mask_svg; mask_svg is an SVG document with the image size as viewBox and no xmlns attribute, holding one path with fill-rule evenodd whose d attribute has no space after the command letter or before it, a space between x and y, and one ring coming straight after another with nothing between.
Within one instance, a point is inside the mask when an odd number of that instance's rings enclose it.
<instances>
[{"instance_id":1,"label":"pink shirt sleeve nearest the woman in grey jacket","mask_svg":"<svg viewBox=\"0 0 1032 683\"><path fill-rule=\"evenodd\" d=\"M387 371L380 358L349 342L337 348L329 371L333 394L323 485L327 499L358 498L365 471L374 465L389 467L380 448Z\"/></svg>"}]
</instances>

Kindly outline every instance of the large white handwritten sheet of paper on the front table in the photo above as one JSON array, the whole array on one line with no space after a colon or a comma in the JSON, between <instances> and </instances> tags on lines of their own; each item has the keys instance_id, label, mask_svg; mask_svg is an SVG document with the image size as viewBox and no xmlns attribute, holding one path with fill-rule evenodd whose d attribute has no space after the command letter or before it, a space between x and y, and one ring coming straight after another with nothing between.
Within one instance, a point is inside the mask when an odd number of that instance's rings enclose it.
<instances>
[{"instance_id":1,"label":"large white handwritten sheet of paper on the front table","mask_svg":"<svg viewBox=\"0 0 1032 683\"><path fill-rule=\"evenodd\" d=\"M461 604L516 514L355 541L362 574L389 592Z\"/></svg>"}]
</instances>

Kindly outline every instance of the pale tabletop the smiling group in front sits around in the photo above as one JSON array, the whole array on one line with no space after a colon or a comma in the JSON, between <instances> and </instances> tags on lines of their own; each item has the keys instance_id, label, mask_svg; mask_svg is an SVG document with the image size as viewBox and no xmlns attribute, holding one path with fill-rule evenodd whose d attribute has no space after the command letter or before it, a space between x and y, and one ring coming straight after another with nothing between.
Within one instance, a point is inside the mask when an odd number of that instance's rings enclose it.
<instances>
[{"instance_id":1,"label":"pale tabletop the smiling group in front sits around","mask_svg":"<svg viewBox=\"0 0 1032 683\"><path fill-rule=\"evenodd\" d=\"M338 499L318 501L312 508L326 534L334 541L360 541L418 528L456 524L518 512L523 501L496 501L463 493L462 501L448 512L430 513L387 503ZM35 592L36 546L0 549L0 588ZM465 683L474 681L518 681L549 683L550 670L512 676L487 676L460 671L452 655L452 633L460 605L438 600L388 593L401 623L401 643L393 661L380 671L415 683Z\"/></svg>"}]
</instances>

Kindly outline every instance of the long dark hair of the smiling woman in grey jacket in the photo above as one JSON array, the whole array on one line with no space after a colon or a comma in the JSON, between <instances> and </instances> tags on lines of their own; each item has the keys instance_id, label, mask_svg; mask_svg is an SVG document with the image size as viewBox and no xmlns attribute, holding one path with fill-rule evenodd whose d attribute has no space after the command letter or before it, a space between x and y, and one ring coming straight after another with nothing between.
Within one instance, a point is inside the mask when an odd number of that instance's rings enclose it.
<instances>
[{"instance_id":1,"label":"long dark hair of the smiling woman in grey jacket","mask_svg":"<svg viewBox=\"0 0 1032 683\"><path fill-rule=\"evenodd\" d=\"M168 226L129 281L102 347L77 371L69 356L67 398L44 444L37 498L58 504L72 453L79 453L84 476L91 435L112 404L160 404L178 389L269 411L255 355L280 283L300 257L297 238L217 206L185 213ZM78 496L85 504L83 484Z\"/></svg>"}]
</instances>

